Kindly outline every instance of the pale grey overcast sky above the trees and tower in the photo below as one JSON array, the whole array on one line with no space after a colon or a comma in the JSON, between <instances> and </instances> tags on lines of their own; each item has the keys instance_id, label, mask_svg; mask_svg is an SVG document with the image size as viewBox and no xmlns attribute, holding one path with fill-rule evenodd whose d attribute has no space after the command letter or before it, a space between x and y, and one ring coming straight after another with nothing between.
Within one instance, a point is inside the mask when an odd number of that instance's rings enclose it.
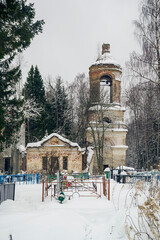
<instances>
[{"instance_id":1,"label":"pale grey overcast sky above the trees and tower","mask_svg":"<svg viewBox=\"0 0 160 240\"><path fill-rule=\"evenodd\" d=\"M43 78L60 75L72 82L78 73L88 76L98 46L110 43L122 67L137 49L133 20L140 0L28 0L36 19L44 19L43 33L23 54L23 81L31 65Z\"/></svg>"}]
</instances>

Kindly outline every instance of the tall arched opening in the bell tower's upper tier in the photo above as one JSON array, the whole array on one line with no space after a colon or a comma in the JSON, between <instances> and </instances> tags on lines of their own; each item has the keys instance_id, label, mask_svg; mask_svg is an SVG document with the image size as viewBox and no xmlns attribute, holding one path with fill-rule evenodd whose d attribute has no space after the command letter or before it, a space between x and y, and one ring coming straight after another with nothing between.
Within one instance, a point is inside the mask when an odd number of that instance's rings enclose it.
<instances>
[{"instance_id":1,"label":"tall arched opening in the bell tower's upper tier","mask_svg":"<svg viewBox=\"0 0 160 240\"><path fill-rule=\"evenodd\" d=\"M112 78L104 75L100 78L100 101L102 103L111 103Z\"/></svg>"}]
</instances>

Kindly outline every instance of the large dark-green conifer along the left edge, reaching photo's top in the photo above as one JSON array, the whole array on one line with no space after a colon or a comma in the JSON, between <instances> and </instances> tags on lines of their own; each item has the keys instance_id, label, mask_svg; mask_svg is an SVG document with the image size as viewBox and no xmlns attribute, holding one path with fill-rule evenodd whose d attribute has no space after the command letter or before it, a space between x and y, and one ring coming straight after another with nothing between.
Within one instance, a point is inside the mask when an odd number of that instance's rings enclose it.
<instances>
[{"instance_id":1,"label":"large dark-green conifer along the left edge, reaching photo's top","mask_svg":"<svg viewBox=\"0 0 160 240\"><path fill-rule=\"evenodd\" d=\"M11 67L15 56L29 47L44 21L34 22L33 4L26 0L0 1L0 146L10 143L23 120L22 101L16 96L20 67Z\"/></svg>"}]
</instances>

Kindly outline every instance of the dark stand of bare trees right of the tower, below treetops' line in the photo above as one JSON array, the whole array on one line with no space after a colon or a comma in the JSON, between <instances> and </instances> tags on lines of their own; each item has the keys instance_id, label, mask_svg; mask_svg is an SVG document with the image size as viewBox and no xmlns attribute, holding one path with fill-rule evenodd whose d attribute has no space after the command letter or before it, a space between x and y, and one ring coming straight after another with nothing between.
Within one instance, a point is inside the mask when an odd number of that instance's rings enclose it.
<instances>
[{"instance_id":1,"label":"dark stand of bare trees right of the tower, below treetops' line","mask_svg":"<svg viewBox=\"0 0 160 240\"><path fill-rule=\"evenodd\" d=\"M157 87L152 83L132 86L126 94L126 105L130 109L128 124L127 161L134 167L157 167L159 163L160 118Z\"/></svg>"}]
</instances>

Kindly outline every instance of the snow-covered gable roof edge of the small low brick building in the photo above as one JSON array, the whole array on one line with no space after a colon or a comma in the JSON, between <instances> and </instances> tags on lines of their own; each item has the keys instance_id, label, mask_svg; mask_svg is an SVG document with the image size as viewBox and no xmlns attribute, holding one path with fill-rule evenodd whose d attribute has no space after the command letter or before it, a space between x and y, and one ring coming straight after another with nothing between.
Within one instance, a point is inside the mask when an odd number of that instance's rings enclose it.
<instances>
[{"instance_id":1,"label":"snow-covered gable roof edge of the small low brick building","mask_svg":"<svg viewBox=\"0 0 160 240\"><path fill-rule=\"evenodd\" d=\"M61 140L62 142L65 142L65 143L68 143L70 146L72 147L78 147L78 150L79 151L82 151L81 147L78 145L78 143L74 143L74 142L71 142L70 140L68 140L67 138L65 137L62 137L61 135L59 135L58 133L52 133L50 135L48 135L47 137L43 138L41 141L38 141L38 142L35 142L35 143L28 143L27 144L27 147L26 148L37 148L37 147L41 147L45 142L47 142L48 140L50 140L51 138L53 137L57 137L59 140ZM54 146L54 145L53 145ZM62 147L62 144L60 145L56 145L56 146L61 146Z\"/></svg>"}]
</instances>

